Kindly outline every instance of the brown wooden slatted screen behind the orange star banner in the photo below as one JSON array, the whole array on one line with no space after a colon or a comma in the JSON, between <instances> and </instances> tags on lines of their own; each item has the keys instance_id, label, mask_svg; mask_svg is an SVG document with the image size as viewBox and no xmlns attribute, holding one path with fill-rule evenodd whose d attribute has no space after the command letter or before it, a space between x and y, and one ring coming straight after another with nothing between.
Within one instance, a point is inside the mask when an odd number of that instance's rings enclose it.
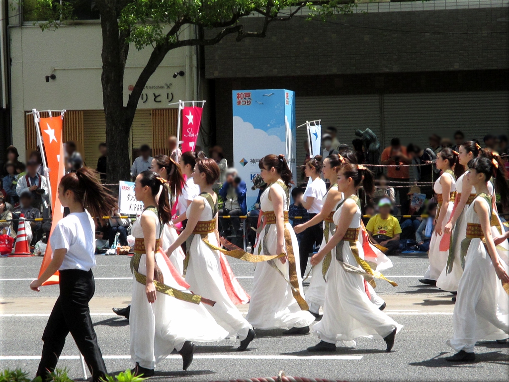
<instances>
[{"instance_id":1,"label":"brown wooden slatted screen behind the orange star banner","mask_svg":"<svg viewBox=\"0 0 509 382\"><path fill-rule=\"evenodd\" d=\"M28 113L28 112L27 112ZM41 118L48 118L48 112L41 112ZM53 117L60 116L60 112L53 112ZM64 122L62 128L62 135L64 142L74 141L78 151L83 152L83 111L70 110L64 115ZM34 116L32 114L25 116L25 149L26 154L30 153L37 148L37 132L35 128ZM85 159L85 158L83 158Z\"/></svg>"}]
</instances>

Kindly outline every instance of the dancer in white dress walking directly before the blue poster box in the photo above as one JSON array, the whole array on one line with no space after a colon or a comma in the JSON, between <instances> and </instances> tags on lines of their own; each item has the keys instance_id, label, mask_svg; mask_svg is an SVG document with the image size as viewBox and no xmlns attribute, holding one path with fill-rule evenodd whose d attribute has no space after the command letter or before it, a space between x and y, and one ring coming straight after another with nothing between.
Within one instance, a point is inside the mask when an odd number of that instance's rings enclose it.
<instances>
[{"instance_id":1,"label":"dancer in white dress walking directly before the blue poster box","mask_svg":"<svg viewBox=\"0 0 509 382\"><path fill-rule=\"evenodd\" d=\"M288 222L292 173L284 155L270 154L260 160L260 174L269 186L261 197L264 226L254 253L286 256L257 264L246 319L257 329L306 334L315 317L307 311L297 237Z\"/></svg>"}]
</instances>

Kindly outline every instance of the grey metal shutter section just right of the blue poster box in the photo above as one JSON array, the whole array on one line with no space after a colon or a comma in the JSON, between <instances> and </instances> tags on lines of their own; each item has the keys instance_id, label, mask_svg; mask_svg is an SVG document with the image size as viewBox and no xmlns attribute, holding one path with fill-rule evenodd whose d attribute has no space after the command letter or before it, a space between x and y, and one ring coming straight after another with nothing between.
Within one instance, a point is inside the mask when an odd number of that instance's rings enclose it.
<instances>
[{"instance_id":1,"label":"grey metal shutter section just right of the blue poster box","mask_svg":"<svg viewBox=\"0 0 509 382\"><path fill-rule=\"evenodd\" d=\"M297 126L321 119L322 129L327 126L337 128L337 140L352 146L355 129L372 129L380 136L380 96L350 95L331 97L295 97ZM304 162L306 152L304 141L306 129L297 129L297 165Z\"/></svg>"}]
</instances>

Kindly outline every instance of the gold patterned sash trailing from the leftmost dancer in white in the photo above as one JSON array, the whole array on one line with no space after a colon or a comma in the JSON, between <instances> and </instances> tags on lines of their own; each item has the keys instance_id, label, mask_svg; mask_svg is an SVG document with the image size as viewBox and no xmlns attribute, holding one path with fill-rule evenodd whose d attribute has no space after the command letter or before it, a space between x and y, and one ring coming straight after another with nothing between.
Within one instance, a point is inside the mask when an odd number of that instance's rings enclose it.
<instances>
[{"instance_id":1,"label":"gold patterned sash trailing from the leftmost dancer in white","mask_svg":"<svg viewBox=\"0 0 509 382\"><path fill-rule=\"evenodd\" d=\"M136 239L137 241L138 239ZM141 239L143 241L143 239ZM159 240L157 240L159 241ZM158 244L156 242L156 244ZM141 274L138 272L139 269L139 261L142 257L143 253L135 252L134 256L131 258L131 273L134 275L134 278L136 281L140 284L146 285L147 284L147 276L144 274ZM157 262L154 259L154 286L156 288L156 291L160 293L164 293L168 296L175 297L181 301L186 301L188 303L192 304L208 304L210 306L214 306L215 301L209 300L208 298L204 298L200 295L193 294L193 293L187 293L178 289L175 289L171 286L168 286L164 284L163 275L161 272L161 269L157 265Z\"/></svg>"}]
</instances>

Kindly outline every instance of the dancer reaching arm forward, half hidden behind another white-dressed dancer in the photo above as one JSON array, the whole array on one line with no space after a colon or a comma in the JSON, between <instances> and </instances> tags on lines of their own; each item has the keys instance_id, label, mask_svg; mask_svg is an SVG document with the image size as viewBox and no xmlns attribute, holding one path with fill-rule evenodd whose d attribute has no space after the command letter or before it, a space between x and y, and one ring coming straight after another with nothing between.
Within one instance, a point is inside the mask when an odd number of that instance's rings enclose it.
<instances>
[{"instance_id":1,"label":"dancer reaching arm forward, half hidden behind another white-dressed dancer","mask_svg":"<svg viewBox=\"0 0 509 382\"><path fill-rule=\"evenodd\" d=\"M332 221L332 215L334 214L337 205L343 201L343 194L337 190L337 168L344 161L345 159L337 154L331 154L323 160L322 173L324 178L330 181L331 185L322 199L322 210L310 221L295 226L293 229L296 234L323 221L322 245L325 245L336 231L336 226ZM332 250L332 256L334 255L335 249ZM322 268L322 262L312 268L310 271L312 276L311 281L309 282L309 288L307 288L305 293L306 303L309 305L309 312L317 319L320 317L319 310L323 307L325 302L326 275L323 274Z\"/></svg>"}]
</instances>

